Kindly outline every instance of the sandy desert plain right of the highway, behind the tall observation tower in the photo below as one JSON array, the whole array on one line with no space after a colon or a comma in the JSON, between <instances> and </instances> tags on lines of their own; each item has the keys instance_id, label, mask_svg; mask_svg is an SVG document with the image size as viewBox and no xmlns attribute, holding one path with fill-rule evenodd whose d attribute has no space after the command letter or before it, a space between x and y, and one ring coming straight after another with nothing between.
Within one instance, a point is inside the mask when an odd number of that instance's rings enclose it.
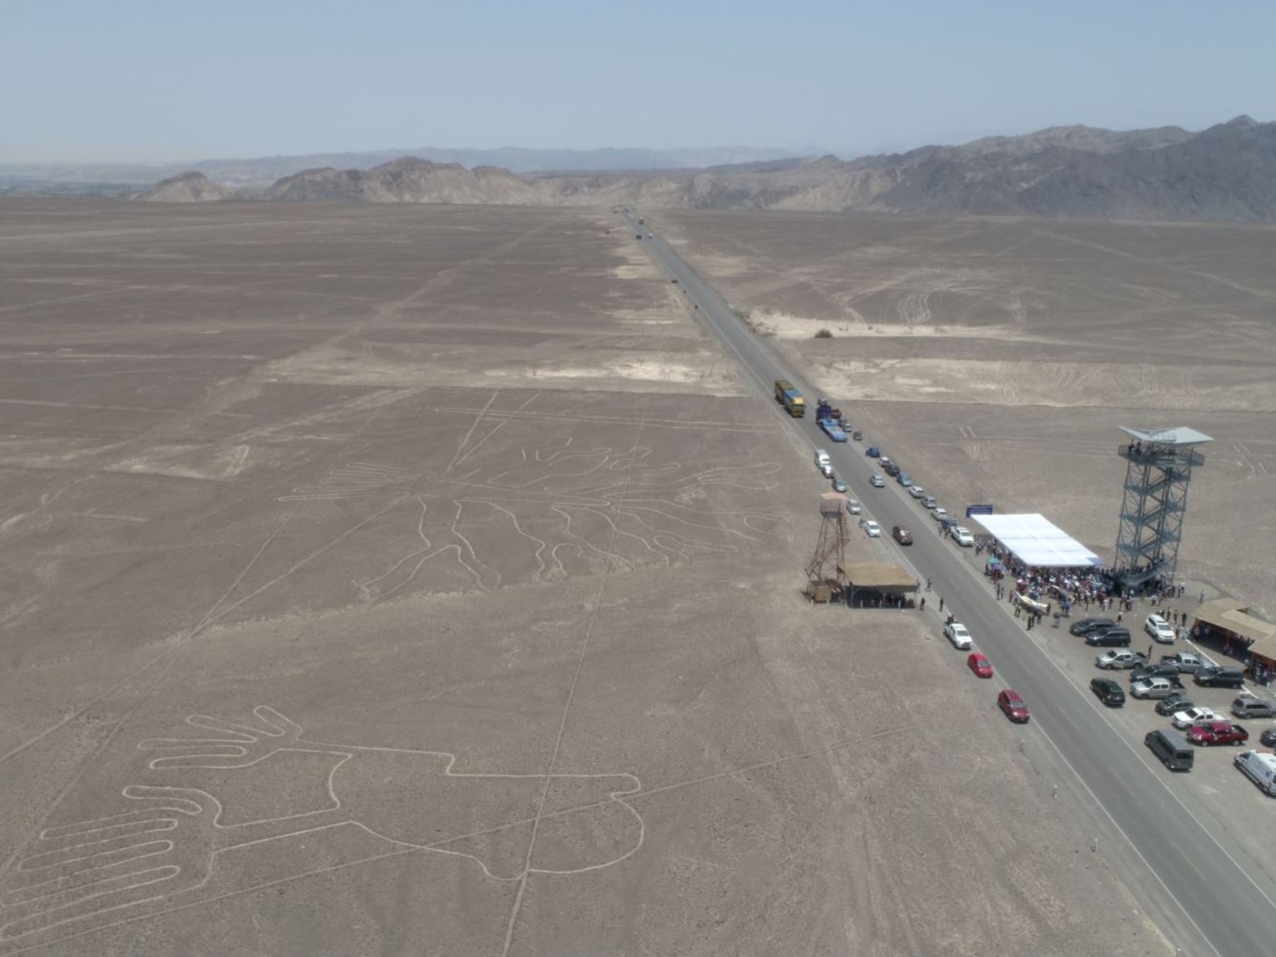
<instances>
[{"instance_id":1,"label":"sandy desert plain right of the highway, behind the tall observation tower","mask_svg":"<svg viewBox=\"0 0 1276 957\"><path fill-rule=\"evenodd\" d=\"M949 511L1040 511L1110 558L1118 426L1212 436L1180 572L1276 612L1276 229L661 213ZM833 338L814 338L827 329Z\"/></svg>"}]
</instances>

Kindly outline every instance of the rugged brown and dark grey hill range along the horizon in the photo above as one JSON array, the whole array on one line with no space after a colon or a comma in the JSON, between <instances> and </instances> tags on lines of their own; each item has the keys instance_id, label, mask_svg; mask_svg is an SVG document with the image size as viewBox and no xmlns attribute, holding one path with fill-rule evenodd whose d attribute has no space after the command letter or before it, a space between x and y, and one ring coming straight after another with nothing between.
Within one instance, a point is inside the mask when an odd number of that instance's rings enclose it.
<instances>
[{"instance_id":1,"label":"rugged brown and dark grey hill range along the horizon","mask_svg":"<svg viewBox=\"0 0 1276 957\"><path fill-rule=\"evenodd\" d=\"M171 189L184 195L185 187ZM371 169L306 169L237 195L293 203L629 203L1272 222L1276 124L1242 116L1201 133L1176 126L1131 131L1057 126L850 162L833 155L790 157L637 172L519 176L504 168L467 169L459 163L401 157ZM207 190L204 198L219 199Z\"/></svg>"}]
</instances>

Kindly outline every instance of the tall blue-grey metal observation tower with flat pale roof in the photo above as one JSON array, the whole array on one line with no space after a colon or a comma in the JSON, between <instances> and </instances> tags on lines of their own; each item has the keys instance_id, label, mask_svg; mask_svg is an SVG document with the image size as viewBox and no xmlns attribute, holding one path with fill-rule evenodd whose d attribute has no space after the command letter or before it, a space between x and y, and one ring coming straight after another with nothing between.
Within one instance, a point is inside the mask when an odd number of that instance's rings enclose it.
<instances>
[{"instance_id":1,"label":"tall blue-grey metal observation tower with flat pale roof","mask_svg":"<svg viewBox=\"0 0 1276 957\"><path fill-rule=\"evenodd\" d=\"M1194 428L1119 428L1131 441L1118 449L1127 465L1113 575L1124 587L1173 580L1192 466L1205 461L1196 447L1212 440Z\"/></svg>"}]
</instances>

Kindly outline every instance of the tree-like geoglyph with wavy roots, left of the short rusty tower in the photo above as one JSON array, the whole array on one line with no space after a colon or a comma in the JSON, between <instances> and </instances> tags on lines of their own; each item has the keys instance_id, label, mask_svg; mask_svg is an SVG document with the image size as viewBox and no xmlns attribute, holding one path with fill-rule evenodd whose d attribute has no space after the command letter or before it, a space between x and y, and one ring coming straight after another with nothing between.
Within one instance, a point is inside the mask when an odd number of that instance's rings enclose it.
<instances>
[{"instance_id":1,"label":"tree-like geoglyph with wavy roots, left of the short rusty tower","mask_svg":"<svg viewBox=\"0 0 1276 957\"><path fill-rule=\"evenodd\" d=\"M572 449L568 437L556 447L522 449L518 468L449 475L439 493L416 494L403 503L412 510L420 544L359 582L360 594L369 601L393 595L440 556L464 568L477 587L493 591L503 575L491 552L522 549L531 580L554 581L568 576L567 562L610 563L625 571L648 561L675 565L701 553L736 553L744 543L786 534L787 519L772 512L713 507L723 489L775 488L778 463L698 471L678 463L643 468L651 454L642 446L620 452L605 446ZM489 526L495 519L508 534L499 543L476 542L466 534L470 519ZM593 534L582 530L590 521Z\"/></svg>"}]
</instances>

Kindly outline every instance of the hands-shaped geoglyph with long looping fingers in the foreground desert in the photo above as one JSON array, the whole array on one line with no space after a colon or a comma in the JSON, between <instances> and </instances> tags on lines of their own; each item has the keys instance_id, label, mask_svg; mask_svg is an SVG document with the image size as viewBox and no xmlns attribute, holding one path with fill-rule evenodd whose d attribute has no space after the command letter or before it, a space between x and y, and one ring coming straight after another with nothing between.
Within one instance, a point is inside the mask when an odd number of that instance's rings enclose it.
<instances>
[{"instance_id":1,"label":"hands-shaped geoglyph with long looping fingers in the foreground desert","mask_svg":"<svg viewBox=\"0 0 1276 957\"><path fill-rule=\"evenodd\" d=\"M128 809L40 832L4 875L0 953L406 854L463 858L486 878L519 881L607 868L642 846L642 817L624 800L642 788L633 775L463 774L448 752L329 744L271 707L254 715L259 724L191 715L186 723L213 737L138 745L161 754L148 767L165 777L221 779L219 796L130 785ZM237 782L232 772L290 756L328 765L324 807L236 814L237 800L260 808L290 796L248 794L271 779ZM245 854L251 867L227 863Z\"/></svg>"}]
</instances>

